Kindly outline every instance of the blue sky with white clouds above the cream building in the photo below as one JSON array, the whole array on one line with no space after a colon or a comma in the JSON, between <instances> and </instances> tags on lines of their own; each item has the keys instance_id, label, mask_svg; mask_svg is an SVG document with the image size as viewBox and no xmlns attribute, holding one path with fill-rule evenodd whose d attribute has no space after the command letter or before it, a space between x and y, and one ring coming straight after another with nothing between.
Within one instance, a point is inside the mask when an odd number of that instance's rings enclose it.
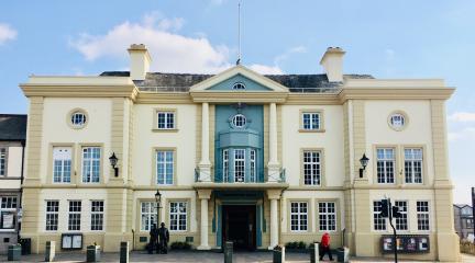
<instances>
[{"instance_id":1,"label":"blue sky with white clouds above the cream building","mask_svg":"<svg viewBox=\"0 0 475 263\"><path fill-rule=\"evenodd\" d=\"M238 0L5 1L0 8L0 113L26 113L30 75L128 70L145 44L152 70L219 72L238 57ZM322 73L329 46L345 73L443 78L454 202L475 186L475 1L241 0L243 65L262 73Z\"/></svg>"}]
</instances>

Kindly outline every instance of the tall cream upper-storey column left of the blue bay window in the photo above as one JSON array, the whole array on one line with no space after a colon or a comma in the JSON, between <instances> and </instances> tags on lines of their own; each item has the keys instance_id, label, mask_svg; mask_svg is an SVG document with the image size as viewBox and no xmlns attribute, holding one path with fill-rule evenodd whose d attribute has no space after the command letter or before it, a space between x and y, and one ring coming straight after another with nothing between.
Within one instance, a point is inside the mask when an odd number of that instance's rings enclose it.
<instances>
[{"instance_id":1,"label":"tall cream upper-storey column left of the blue bay window","mask_svg":"<svg viewBox=\"0 0 475 263\"><path fill-rule=\"evenodd\" d=\"M211 162L209 160L209 104L201 106L201 161L199 167L200 181L211 181Z\"/></svg>"}]
</instances>

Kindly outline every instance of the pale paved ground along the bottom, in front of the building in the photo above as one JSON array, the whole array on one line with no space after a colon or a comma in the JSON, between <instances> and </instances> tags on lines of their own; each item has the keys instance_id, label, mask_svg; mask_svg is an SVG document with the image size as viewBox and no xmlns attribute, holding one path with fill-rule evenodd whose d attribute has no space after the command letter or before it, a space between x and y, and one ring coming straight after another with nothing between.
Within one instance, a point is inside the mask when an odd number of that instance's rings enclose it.
<instances>
[{"instance_id":1,"label":"pale paved ground along the bottom, in front of the building","mask_svg":"<svg viewBox=\"0 0 475 263\"><path fill-rule=\"evenodd\" d=\"M119 253L102 253L101 262L119 262ZM234 253L233 263L243 262L272 262L270 252L236 252ZM462 262L475 263L475 256L463 254ZM1 262L7 262L7 255L0 256ZM71 253L58 253L56 254L55 262L85 262L86 254L71 252ZM131 262L180 262L180 263L198 263L198 262L223 262L223 254L217 252L170 252L166 255L146 254L145 252L132 252L130 255ZM24 255L19 262L44 262L43 254ZM288 263L303 263L310 262L309 255L305 253L287 253L286 262ZM329 262L329 261L324 261ZM374 258L355 258L351 262L394 262L390 260L374 259ZM399 262L415 262L415 261L399 261ZM420 262L420 261L418 261Z\"/></svg>"}]
</instances>

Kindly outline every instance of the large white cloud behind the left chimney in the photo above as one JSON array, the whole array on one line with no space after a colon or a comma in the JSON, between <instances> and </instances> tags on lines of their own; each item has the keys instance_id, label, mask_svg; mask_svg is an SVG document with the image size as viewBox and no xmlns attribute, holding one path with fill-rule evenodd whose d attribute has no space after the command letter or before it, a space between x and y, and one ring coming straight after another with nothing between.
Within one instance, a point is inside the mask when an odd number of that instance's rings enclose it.
<instances>
[{"instance_id":1,"label":"large white cloud behind the left chimney","mask_svg":"<svg viewBox=\"0 0 475 263\"><path fill-rule=\"evenodd\" d=\"M104 35L81 34L70 42L88 60L101 57L125 57L133 43L143 43L154 61L152 70L166 72L219 72L231 67L229 48L211 45L202 36L188 37L175 33L183 19L161 19L157 12L146 14L141 23L129 21Z\"/></svg>"}]
</instances>

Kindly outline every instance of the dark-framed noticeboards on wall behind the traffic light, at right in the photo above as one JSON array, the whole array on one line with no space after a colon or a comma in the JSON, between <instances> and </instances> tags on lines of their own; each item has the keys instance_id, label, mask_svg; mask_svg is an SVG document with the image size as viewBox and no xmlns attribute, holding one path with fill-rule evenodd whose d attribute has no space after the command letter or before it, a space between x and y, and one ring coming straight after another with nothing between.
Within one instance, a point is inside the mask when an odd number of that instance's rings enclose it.
<instances>
[{"instance_id":1,"label":"dark-framed noticeboards on wall behind the traffic light, at right","mask_svg":"<svg viewBox=\"0 0 475 263\"><path fill-rule=\"evenodd\" d=\"M397 251L402 254L410 253L429 253L430 241L428 235L398 235L396 239ZM391 235L385 235L380 238L382 253L394 252L394 238Z\"/></svg>"}]
</instances>

